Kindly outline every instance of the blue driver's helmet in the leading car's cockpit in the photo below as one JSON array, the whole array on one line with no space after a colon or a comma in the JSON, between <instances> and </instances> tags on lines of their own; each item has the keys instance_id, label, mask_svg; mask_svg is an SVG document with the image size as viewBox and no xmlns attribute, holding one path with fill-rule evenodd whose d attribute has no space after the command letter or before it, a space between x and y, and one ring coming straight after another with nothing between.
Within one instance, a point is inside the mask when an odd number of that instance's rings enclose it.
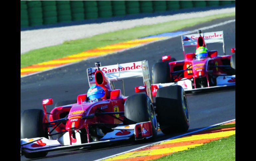
<instances>
[{"instance_id":1,"label":"blue driver's helmet in the leading car's cockpit","mask_svg":"<svg viewBox=\"0 0 256 161\"><path fill-rule=\"evenodd\" d=\"M106 92L102 87L94 85L88 90L87 97L91 102L99 101L105 99Z\"/></svg>"}]
</instances>

